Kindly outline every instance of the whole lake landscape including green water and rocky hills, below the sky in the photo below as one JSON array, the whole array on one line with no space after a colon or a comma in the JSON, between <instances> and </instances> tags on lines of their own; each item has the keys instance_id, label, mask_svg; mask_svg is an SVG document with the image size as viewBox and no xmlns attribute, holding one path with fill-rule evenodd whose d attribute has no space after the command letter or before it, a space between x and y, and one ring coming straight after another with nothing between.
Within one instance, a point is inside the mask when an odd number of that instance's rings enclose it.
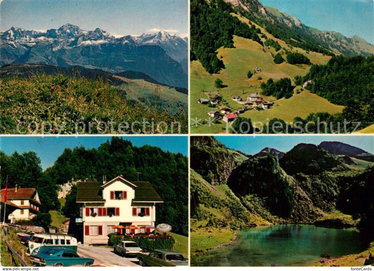
<instances>
[{"instance_id":1,"label":"whole lake landscape including green water and rocky hills, below the sky","mask_svg":"<svg viewBox=\"0 0 374 271\"><path fill-rule=\"evenodd\" d=\"M374 245L373 154L323 141L248 155L219 138L191 136L192 265L364 264Z\"/></svg>"}]
</instances>

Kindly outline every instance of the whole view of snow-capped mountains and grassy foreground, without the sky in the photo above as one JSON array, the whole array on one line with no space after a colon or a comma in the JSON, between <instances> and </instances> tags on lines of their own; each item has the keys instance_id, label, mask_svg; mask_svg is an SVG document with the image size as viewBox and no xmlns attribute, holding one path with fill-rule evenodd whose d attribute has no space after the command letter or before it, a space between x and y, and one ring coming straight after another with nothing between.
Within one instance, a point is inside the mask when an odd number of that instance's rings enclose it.
<instances>
[{"instance_id":1,"label":"whole view of snow-capped mountains and grassy foreground, without the sky","mask_svg":"<svg viewBox=\"0 0 374 271\"><path fill-rule=\"evenodd\" d=\"M53 133L77 132L76 123L79 132L98 133L102 127L89 123L109 121L111 133L187 132L187 38L165 31L114 37L71 24L45 32L12 27L0 38L1 133L30 122L24 132L36 132L43 121ZM122 130L122 121L153 124Z\"/></svg>"}]
</instances>

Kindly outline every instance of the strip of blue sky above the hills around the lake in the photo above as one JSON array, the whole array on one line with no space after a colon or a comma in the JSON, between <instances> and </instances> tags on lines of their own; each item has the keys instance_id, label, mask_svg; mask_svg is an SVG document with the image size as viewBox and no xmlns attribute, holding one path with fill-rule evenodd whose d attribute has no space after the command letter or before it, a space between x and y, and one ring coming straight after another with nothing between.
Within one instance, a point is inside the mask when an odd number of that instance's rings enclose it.
<instances>
[{"instance_id":1,"label":"strip of blue sky above the hills around the lake","mask_svg":"<svg viewBox=\"0 0 374 271\"><path fill-rule=\"evenodd\" d=\"M215 136L226 147L242 151L246 154L256 154L265 147L279 151L289 151L299 143L319 145L322 141L339 141L361 148L374 154L373 136Z\"/></svg>"}]
</instances>

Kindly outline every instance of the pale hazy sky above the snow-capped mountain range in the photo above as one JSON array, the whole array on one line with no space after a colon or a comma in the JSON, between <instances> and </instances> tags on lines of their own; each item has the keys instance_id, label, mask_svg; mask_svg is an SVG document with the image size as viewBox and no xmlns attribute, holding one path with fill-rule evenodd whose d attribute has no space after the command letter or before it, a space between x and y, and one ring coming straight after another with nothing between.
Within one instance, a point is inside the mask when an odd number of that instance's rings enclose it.
<instances>
[{"instance_id":1,"label":"pale hazy sky above the snow-capped mountain range","mask_svg":"<svg viewBox=\"0 0 374 271\"><path fill-rule=\"evenodd\" d=\"M46 30L70 23L115 35L188 33L187 0L0 0L1 30Z\"/></svg>"}]
</instances>

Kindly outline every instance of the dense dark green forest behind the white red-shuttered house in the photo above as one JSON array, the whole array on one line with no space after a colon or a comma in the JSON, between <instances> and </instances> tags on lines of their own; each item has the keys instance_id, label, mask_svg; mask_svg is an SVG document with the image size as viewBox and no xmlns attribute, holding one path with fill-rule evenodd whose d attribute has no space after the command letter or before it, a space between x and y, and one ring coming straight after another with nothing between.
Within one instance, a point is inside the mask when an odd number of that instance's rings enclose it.
<instances>
[{"instance_id":1,"label":"dense dark green forest behind the white red-shuttered house","mask_svg":"<svg viewBox=\"0 0 374 271\"><path fill-rule=\"evenodd\" d=\"M35 187L42 202L42 212L58 209L57 185L72 180L101 181L123 175L128 181L148 181L164 203L156 208L156 224L168 223L173 231L188 234L188 162L182 154L165 152L145 145L134 147L131 142L112 138L97 149L69 148L58 157L54 165L43 172L40 158L33 152L11 156L0 153L1 186L6 176L8 186ZM75 188L67 197L63 212L74 216ZM71 213L70 213L71 212Z\"/></svg>"}]
</instances>

